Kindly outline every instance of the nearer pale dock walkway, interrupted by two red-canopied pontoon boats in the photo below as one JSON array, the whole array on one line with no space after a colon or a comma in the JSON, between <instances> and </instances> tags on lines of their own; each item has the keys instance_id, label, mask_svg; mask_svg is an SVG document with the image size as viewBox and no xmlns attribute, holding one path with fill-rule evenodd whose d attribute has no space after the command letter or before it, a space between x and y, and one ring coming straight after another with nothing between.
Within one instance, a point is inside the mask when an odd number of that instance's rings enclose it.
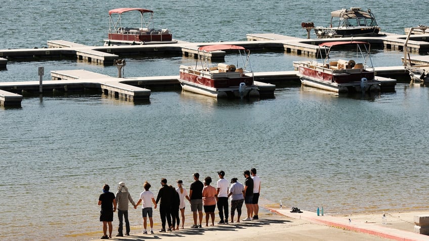
<instances>
[{"instance_id":1,"label":"nearer pale dock walkway, interrupted by two red-canopied pontoon boats","mask_svg":"<svg viewBox=\"0 0 429 241\"><path fill-rule=\"evenodd\" d=\"M375 68L381 91L394 91L396 80L389 76L406 76L403 66ZM296 71L255 72L261 98L274 98L275 84L301 84ZM179 76L116 78L87 70L51 71L52 80L42 81L42 92L73 92L94 89L111 98L128 102L149 100L151 90L146 87L180 88ZM0 82L0 104L21 105L22 95L39 93L39 81Z\"/></svg>"}]
</instances>

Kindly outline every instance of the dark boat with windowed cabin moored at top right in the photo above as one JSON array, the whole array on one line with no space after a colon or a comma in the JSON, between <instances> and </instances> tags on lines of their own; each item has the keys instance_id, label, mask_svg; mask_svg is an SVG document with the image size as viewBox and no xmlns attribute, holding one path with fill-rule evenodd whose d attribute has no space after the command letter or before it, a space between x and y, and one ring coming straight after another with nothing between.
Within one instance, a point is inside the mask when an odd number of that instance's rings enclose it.
<instances>
[{"instance_id":1,"label":"dark boat with windowed cabin moored at top right","mask_svg":"<svg viewBox=\"0 0 429 241\"><path fill-rule=\"evenodd\" d=\"M331 12L329 27L315 26L318 38L364 37L380 35L380 28L371 10L341 9Z\"/></svg>"}]
</instances>

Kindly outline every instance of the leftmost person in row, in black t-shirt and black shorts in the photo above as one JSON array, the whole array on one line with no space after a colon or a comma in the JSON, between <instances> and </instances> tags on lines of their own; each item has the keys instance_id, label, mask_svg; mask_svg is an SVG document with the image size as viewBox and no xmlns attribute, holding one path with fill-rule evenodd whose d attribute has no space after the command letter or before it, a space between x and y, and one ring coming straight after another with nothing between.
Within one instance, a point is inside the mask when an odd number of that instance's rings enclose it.
<instances>
[{"instance_id":1,"label":"leftmost person in row, in black t-shirt and black shorts","mask_svg":"<svg viewBox=\"0 0 429 241\"><path fill-rule=\"evenodd\" d=\"M98 198L98 205L101 206L100 222L103 222L103 236L101 237L102 239L112 238L113 212L116 211L115 195L113 194L113 192L110 192L109 189L109 185L104 184L103 193ZM107 236L107 224L109 224L109 236Z\"/></svg>"}]
</instances>

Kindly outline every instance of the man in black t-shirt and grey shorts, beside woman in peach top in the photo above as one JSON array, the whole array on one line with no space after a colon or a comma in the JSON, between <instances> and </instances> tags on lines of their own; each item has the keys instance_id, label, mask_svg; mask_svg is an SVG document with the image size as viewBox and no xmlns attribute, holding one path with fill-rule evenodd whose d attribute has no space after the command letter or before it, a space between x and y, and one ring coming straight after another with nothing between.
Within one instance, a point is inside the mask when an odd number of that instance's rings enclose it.
<instances>
[{"instance_id":1,"label":"man in black t-shirt and grey shorts, beside woman in peach top","mask_svg":"<svg viewBox=\"0 0 429 241\"><path fill-rule=\"evenodd\" d=\"M191 187L189 188L189 202L191 203L191 211L194 218L194 225L192 228L201 227L202 222L202 188L204 188L204 184L199 180L200 174L198 172L194 173L194 182L192 182ZM197 225L197 211L198 217L200 221L200 225Z\"/></svg>"}]
</instances>

